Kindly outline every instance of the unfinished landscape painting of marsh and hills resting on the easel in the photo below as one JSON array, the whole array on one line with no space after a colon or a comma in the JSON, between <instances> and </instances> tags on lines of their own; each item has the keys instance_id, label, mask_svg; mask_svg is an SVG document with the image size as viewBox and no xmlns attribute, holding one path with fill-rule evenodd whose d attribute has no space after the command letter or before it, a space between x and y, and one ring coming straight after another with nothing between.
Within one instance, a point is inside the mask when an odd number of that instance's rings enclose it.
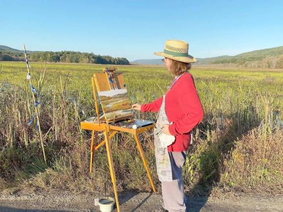
<instances>
[{"instance_id":1,"label":"unfinished landscape painting of marsh and hills resting on the easel","mask_svg":"<svg viewBox=\"0 0 283 212\"><path fill-rule=\"evenodd\" d=\"M107 120L133 116L127 89L101 91L98 96Z\"/></svg>"}]
</instances>

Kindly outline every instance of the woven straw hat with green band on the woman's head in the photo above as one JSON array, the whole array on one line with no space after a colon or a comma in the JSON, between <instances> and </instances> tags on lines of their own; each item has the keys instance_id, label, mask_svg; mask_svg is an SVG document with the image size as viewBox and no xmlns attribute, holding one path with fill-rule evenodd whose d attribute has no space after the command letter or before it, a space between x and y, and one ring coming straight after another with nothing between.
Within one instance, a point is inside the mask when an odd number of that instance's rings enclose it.
<instances>
[{"instance_id":1,"label":"woven straw hat with green band on the woman's head","mask_svg":"<svg viewBox=\"0 0 283 212\"><path fill-rule=\"evenodd\" d=\"M197 62L196 58L188 54L189 44L180 40L167 40L163 52L154 53L185 63Z\"/></svg>"}]
</instances>

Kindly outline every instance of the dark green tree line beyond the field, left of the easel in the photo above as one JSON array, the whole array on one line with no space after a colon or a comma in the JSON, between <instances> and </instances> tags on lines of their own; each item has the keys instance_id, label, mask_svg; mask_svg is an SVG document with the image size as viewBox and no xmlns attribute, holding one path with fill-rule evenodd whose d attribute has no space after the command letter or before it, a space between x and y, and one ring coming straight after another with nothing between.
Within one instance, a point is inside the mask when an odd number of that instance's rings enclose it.
<instances>
[{"instance_id":1,"label":"dark green tree line beyond the field, left of the easel","mask_svg":"<svg viewBox=\"0 0 283 212\"><path fill-rule=\"evenodd\" d=\"M28 55L30 61L34 62L66 62L66 63L97 63L129 65L130 62L124 57L112 57L96 55L94 53L81 53L71 51L61 52L33 52ZM24 61L25 55L22 52L1 52L2 61Z\"/></svg>"}]
</instances>

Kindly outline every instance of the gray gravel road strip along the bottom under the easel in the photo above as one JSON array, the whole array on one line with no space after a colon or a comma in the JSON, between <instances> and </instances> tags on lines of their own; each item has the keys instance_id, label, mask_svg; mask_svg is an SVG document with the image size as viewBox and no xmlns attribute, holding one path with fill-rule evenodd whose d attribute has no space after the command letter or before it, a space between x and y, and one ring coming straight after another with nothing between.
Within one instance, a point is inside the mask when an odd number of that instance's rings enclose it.
<instances>
[{"instance_id":1,"label":"gray gravel road strip along the bottom under the easel","mask_svg":"<svg viewBox=\"0 0 283 212\"><path fill-rule=\"evenodd\" d=\"M99 212L96 197L68 192L14 193L0 196L0 212ZM150 193L119 194L121 212L162 212L162 197ZM188 197L187 212L283 212L281 196L238 196L224 199ZM114 210L116 212L116 210Z\"/></svg>"}]
</instances>

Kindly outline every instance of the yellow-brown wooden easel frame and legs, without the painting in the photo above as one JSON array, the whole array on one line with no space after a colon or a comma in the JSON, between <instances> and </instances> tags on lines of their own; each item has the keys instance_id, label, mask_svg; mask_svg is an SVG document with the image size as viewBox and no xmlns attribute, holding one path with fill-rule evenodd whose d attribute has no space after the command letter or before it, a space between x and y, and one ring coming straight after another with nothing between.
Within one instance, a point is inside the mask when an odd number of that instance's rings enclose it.
<instances>
[{"instance_id":1,"label":"yellow-brown wooden easel frame and legs, without the painting","mask_svg":"<svg viewBox=\"0 0 283 212\"><path fill-rule=\"evenodd\" d=\"M139 133L145 132L149 129L153 129L154 124L146 126L146 127L138 128L138 129L128 129L128 128L123 128L123 127L111 125L110 124L111 121L106 120L105 117L102 120L100 120L99 110L98 110L98 98L97 98L96 92L97 91L100 92L100 91L111 90L113 88L113 86L116 86L117 89L120 89L121 87L125 87L125 82L124 82L123 76L121 74L117 73L117 74L113 75L113 80L115 80L115 83L112 83L112 81L108 80L109 79L109 72L108 71L105 70L105 73L96 73L96 74L93 75L93 78L91 78L97 120L95 120L93 122L86 122L86 121L81 122L81 129L92 131L91 144L90 144L90 165L89 165L89 172L90 173L92 172L94 151L97 150L99 147L103 146L104 144L106 146L107 158L108 158L108 163L109 163L111 180L112 180L112 184L113 184L116 207L117 207L117 211L120 212L120 205L119 205L117 187L116 187L116 176L115 176L115 170L114 170L114 166L113 166L113 159L112 159L112 153L111 153L111 138L117 132L128 132L128 133L131 133L131 134L134 135L139 153L142 157L142 162L143 162L144 168L147 172L147 177L150 181L153 192L155 193L156 189L155 189L155 186L153 184L151 174L150 174L150 171L149 171L149 168L148 168L148 165L147 165L147 161L144 157L142 145L141 145L141 142L140 142L140 139L139 139L139 136L138 136ZM115 71L115 68L114 68L113 71ZM98 78L99 79L106 79L106 80L98 80ZM115 120L115 121L117 121L117 120ZM96 144L97 132L103 132L103 134L104 134L104 140L102 142L100 142L99 144Z\"/></svg>"}]
</instances>

